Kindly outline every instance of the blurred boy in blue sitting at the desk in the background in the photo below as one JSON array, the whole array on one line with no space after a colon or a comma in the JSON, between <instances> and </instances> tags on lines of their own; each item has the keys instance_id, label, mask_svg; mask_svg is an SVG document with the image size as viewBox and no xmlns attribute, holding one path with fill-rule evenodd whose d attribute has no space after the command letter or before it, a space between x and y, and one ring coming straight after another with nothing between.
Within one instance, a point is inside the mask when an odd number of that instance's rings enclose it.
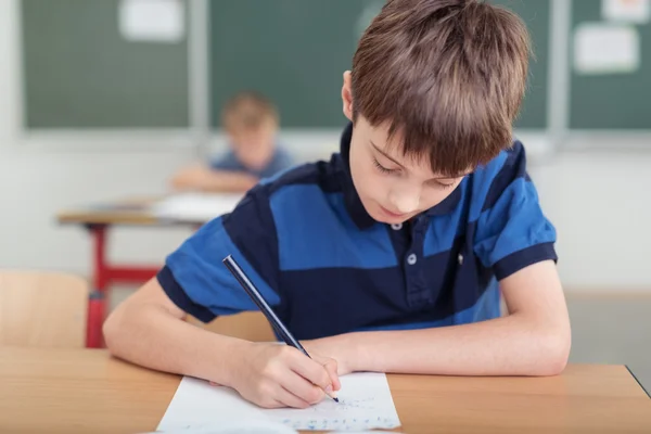
<instances>
[{"instance_id":1,"label":"blurred boy in blue sitting at the desk in the background","mask_svg":"<svg viewBox=\"0 0 651 434\"><path fill-rule=\"evenodd\" d=\"M190 166L171 179L178 190L244 192L259 179L289 168L290 154L276 143L278 111L256 92L240 92L224 106L221 123L231 149L209 166Z\"/></svg>"}]
</instances>

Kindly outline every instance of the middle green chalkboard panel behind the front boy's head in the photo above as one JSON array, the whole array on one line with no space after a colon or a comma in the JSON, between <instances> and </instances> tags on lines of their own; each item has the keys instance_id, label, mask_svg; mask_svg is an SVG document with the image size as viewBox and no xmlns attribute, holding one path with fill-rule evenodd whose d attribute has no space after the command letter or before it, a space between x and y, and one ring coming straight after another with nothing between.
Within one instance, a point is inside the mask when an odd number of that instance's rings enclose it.
<instances>
[{"instance_id":1,"label":"middle green chalkboard panel behind the front boy's head","mask_svg":"<svg viewBox=\"0 0 651 434\"><path fill-rule=\"evenodd\" d=\"M329 128L344 123L342 74L350 68L361 31L382 0L210 1L213 126L226 99L256 89L278 105L283 127ZM534 39L528 91L516 126L547 127L550 0L499 0L519 13Z\"/></svg>"}]
</instances>

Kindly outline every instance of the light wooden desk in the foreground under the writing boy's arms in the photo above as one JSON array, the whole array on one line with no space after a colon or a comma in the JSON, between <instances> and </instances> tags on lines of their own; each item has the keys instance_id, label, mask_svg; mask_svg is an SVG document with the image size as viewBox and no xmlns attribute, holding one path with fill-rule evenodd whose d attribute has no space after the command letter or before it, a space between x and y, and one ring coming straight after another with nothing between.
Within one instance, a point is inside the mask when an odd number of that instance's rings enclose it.
<instances>
[{"instance_id":1,"label":"light wooden desk in the foreground under the writing boy's arms","mask_svg":"<svg viewBox=\"0 0 651 434\"><path fill-rule=\"evenodd\" d=\"M103 349L0 348L0 432L153 431L179 376ZM651 399L624 366L552 378L388 375L404 433L651 433Z\"/></svg>"}]
</instances>

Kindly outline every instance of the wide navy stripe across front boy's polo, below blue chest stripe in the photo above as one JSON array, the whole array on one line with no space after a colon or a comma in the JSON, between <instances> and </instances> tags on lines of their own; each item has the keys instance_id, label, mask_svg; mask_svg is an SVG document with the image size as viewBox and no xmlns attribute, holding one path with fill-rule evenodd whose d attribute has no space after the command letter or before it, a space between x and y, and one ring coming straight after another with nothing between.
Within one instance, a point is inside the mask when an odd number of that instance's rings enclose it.
<instances>
[{"instance_id":1,"label":"wide navy stripe across front boy's polo, below blue chest stripe","mask_svg":"<svg viewBox=\"0 0 651 434\"><path fill-rule=\"evenodd\" d=\"M457 252L467 255L461 265L450 252L417 261L422 282L409 292L399 267L282 271L278 314L297 339L447 318L475 305L493 279L468 248Z\"/></svg>"}]
</instances>

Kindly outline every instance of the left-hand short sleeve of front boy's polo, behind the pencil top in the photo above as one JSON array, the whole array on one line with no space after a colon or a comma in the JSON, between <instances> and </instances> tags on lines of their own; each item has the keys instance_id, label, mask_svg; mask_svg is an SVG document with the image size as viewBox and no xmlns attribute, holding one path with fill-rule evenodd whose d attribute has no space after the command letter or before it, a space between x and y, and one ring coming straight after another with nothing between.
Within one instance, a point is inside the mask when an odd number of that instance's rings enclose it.
<instances>
[{"instance_id":1,"label":"left-hand short sleeve of front boy's polo, behind the pencil top","mask_svg":"<svg viewBox=\"0 0 651 434\"><path fill-rule=\"evenodd\" d=\"M222 260L238 261L271 306L278 292L278 240L265 189L251 190L232 213L199 229L173 252L157 275L183 311L208 322L219 315L257 310Z\"/></svg>"}]
</instances>

